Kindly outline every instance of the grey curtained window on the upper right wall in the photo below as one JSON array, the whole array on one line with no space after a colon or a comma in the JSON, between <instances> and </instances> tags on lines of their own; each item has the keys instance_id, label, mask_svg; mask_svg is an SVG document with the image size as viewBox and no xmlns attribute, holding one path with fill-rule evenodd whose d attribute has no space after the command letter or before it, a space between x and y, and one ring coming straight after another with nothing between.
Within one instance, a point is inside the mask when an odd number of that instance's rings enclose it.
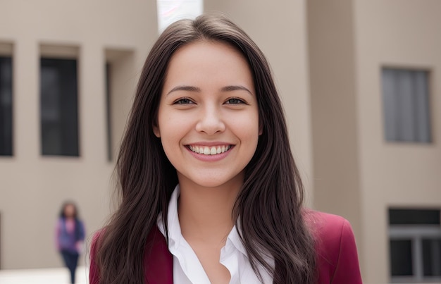
<instances>
[{"instance_id":1,"label":"grey curtained window on the upper right wall","mask_svg":"<svg viewBox=\"0 0 441 284\"><path fill-rule=\"evenodd\" d=\"M385 138L391 142L429 143L429 72L383 68Z\"/></svg>"}]
</instances>

